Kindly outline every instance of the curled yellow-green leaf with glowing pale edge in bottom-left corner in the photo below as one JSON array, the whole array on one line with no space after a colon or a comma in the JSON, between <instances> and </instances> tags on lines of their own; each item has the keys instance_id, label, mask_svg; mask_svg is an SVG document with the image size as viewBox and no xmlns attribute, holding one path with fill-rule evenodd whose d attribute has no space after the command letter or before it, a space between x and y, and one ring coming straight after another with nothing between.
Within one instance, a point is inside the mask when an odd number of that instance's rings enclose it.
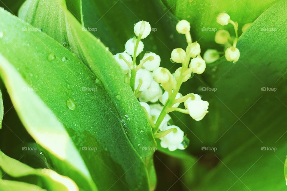
<instances>
[{"instance_id":1,"label":"curled yellow-green leaf with glowing pale edge in bottom-left corner","mask_svg":"<svg viewBox=\"0 0 287 191\"><path fill-rule=\"evenodd\" d=\"M70 178L59 175L50 169L33 169L26 164L8 157L0 151L0 168L12 177L36 175L45 182L45 188L53 191L77 191L79 188Z\"/></svg>"}]
</instances>

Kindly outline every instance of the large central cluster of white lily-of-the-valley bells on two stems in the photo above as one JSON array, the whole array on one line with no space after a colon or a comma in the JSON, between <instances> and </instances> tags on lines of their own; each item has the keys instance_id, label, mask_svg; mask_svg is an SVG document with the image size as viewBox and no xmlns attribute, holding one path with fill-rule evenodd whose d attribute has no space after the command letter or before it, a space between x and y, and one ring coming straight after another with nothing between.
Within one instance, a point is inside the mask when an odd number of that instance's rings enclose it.
<instances>
[{"instance_id":1,"label":"large central cluster of white lily-of-the-valley bells on two stems","mask_svg":"<svg viewBox=\"0 0 287 191\"><path fill-rule=\"evenodd\" d=\"M182 48L172 50L170 60L181 64L174 73L160 67L160 56L152 52L146 52L139 64L136 64L136 57L144 49L141 39L146 38L151 31L151 26L146 21L135 24L136 37L126 42L123 53L115 55L116 61L129 77L132 90L146 113L154 137L161 140L161 147L170 151L185 149L188 139L179 127L171 125L168 113L173 111L186 113L199 121L208 113L209 105L197 94L182 96L179 93L182 83L192 78L194 73L202 74L206 64L200 56L200 45L192 42L190 23L181 20L176 25L176 30L185 35L187 47L186 50ZM179 108L180 103L184 103L185 109Z\"/></svg>"}]
</instances>

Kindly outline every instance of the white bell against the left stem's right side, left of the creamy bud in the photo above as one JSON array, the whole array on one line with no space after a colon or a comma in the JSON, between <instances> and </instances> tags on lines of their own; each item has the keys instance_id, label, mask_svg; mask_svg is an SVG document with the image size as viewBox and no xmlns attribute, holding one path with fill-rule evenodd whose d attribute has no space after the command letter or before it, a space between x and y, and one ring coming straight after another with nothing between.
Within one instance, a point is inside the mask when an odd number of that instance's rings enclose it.
<instances>
[{"instance_id":1,"label":"white bell against the left stem's right side, left of the creamy bud","mask_svg":"<svg viewBox=\"0 0 287 191\"><path fill-rule=\"evenodd\" d=\"M148 70L139 69L135 76L135 89L141 84L140 91L144 91L149 88L152 83L152 74Z\"/></svg>"}]
</instances>

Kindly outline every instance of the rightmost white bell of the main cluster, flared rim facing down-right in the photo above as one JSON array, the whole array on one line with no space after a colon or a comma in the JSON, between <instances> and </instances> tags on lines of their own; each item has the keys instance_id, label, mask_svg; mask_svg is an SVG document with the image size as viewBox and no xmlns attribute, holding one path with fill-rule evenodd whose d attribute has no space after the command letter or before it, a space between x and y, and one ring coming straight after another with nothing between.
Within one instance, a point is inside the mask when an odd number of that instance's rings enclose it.
<instances>
[{"instance_id":1,"label":"rightmost white bell of the main cluster, flared rim facing down-right","mask_svg":"<svg viewBox=\"0 0 287 191\"><path fill-rule=\"evenodd\" d=\"M208 113L208 101L203 101L201 97L197 94L194 94L195 99L192 100L191 98L188 98L184 102L184 106L189 111L190 117L192 117L196 121L200 121L204 118L204 116Z\"/></svg>"}]
</instances>

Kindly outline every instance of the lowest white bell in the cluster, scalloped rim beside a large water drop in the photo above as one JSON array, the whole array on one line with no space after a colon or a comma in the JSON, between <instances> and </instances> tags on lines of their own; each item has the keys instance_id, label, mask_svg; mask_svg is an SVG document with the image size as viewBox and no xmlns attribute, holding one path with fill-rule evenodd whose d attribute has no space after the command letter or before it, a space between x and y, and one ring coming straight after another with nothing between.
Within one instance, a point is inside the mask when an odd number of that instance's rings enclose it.
<instances>
[{"instance_id":1,"label":"lowest white bell in the cluster, scalloped rim beside a large water drop","mask_svg":"<svg viewBox=\"0 0 287 191\"><path fill-rule=\"evenodd\" d=\"M168 130L171 128L176 128L176 131L172 131L164 137L160 138L161 147L168 148L170 151L174 151L178 148L182 149L181 143L184 140L184 132L175 125L168 126L164 130Z\"/></svg>"}]
</instances>

